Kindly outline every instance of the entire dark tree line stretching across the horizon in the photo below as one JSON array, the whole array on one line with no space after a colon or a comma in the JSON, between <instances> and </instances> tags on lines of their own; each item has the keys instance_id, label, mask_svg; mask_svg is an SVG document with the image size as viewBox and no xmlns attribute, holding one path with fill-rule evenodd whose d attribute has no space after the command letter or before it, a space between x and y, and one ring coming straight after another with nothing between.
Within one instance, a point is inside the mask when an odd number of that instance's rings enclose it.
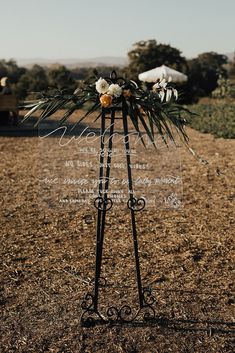
<instances>
[{"instance_id":1,"label":"entire dark tree line stretching across the horizon","mask_svg":"<svg viewBox=\"0 0 235 353\"><path fill-rule=\"evenodd\" d=\"M210 96L216 89L220 77L227 78L235 74L235 61L228 63L227 56L216 52L207 52L193 59L186 59L180 50L156 40L139 41L128 53L129 63L124 68L98 67L101 76L116 69L119 75L138 82L138 74L160 65L166 65L188 76L181 86L183 101L196 102L200 97ZM0 60L0 77L8 76L13 92L20 100L37 96L51 88L73 92L82 80L93 75L93 68L78 67L69 70L64 65L50 68L34 65L30 69L19 67L14 60Z\"/></svg>"}]
</instances>

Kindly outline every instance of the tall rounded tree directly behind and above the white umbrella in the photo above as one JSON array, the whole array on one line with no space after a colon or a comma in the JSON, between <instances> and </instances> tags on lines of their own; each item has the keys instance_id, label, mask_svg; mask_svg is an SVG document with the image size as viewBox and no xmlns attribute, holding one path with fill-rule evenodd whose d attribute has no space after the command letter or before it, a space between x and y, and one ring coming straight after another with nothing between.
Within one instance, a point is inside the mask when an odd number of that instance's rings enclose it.
<instances>
[{"instance_id":1,"label":"tall rounded tree directly behind and above the white umbrella","mask_svg":"<svg viewBox=\"0 0 235 353\"><path fill-rule=\"evenodd\" d=\"M126 73L134 80L137 80L139 73L163 64L179 71L186 70L186 59L181 52L168 44L158 44L156 40L135 43L128 57Z\"/></svg>"}]
</instances>

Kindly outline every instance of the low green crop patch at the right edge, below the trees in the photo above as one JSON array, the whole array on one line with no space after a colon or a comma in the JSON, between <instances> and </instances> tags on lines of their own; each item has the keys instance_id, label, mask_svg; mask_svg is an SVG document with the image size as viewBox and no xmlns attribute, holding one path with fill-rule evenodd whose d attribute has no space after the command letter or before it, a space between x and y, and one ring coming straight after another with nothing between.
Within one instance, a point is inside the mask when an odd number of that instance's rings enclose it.
<instances>
[{"instance_id":1,"label":"low green crop patch at the right edge, below the trees","mask_svg":"<svg viewBox=\"0 0 235 353\"><path fill-rule=\"evenodd\" d=\"M216 137L235 138L234 104L197 104L190 109L198 114L190 119L194 129Z\"/></svg>"}]
</instances>

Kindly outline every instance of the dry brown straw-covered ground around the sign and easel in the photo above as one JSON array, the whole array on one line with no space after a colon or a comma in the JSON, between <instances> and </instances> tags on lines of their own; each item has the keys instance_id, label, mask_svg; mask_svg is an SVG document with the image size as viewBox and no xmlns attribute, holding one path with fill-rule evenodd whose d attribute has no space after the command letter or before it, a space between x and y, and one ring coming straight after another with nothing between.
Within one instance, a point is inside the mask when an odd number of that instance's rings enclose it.
<instances>
[{"instance_id":1,"label":"dry brown straw-covered ground around the sign and easel","mask_svg":"<svg viewBox=\"0 0 235 353\"><path fill-rule=\"evenodd\" d=\"M137 214L142 280L158 320L86 328L81 302L93 290L96 210L42 208L37 137L1 131L2 353L233 352L235 140L188 133L209 164L181 148L183 209ZM101 307L137 310L128 211L108 212L104 249Z\"/></svg>"}]
</instances>

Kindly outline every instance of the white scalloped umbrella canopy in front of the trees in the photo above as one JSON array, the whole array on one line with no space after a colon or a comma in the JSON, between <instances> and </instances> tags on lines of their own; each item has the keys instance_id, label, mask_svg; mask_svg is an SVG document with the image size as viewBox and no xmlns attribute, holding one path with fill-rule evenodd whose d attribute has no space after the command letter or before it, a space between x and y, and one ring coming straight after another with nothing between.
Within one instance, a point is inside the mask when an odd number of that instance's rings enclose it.
<instances>
[{"instance_id":1,"label":"white scalloped umbrella canopy in front of the trees","mask_svg":"<svg viewBox=\"0 0 235 353\"><path fill-rule=\"evenodd\" d=\"M169 80L169 77L171 77L172 82L185 82L188 79L186 75L165 65L142 72L138 77L140 81L144 82L157 82L157 80L162 78Z\"/></svg>"}]
</instances>

